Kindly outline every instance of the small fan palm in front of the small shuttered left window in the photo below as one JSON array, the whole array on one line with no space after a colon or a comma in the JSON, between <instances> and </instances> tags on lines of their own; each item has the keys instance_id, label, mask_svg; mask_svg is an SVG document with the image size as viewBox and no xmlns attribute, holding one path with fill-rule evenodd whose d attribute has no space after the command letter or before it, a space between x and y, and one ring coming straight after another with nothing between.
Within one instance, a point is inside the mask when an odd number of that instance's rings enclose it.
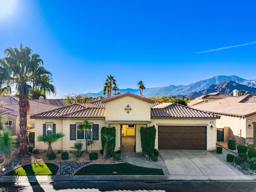
<instances>
[{"instance_id":1,"label":"small fan palm in front of the small shuttered left window","mask_svg":"<svg viewBox=\"0 0 256 192\"><path fill-rule=\"evenodd\" d=\"M44 144L48 145L48 150L46 153L46 155L48 156L49 154L53 153L52 144L57 142L62 137L64 137L64 134L62 134L60 132L48 134L48 135L38 135L37 141L42 141L42 142L44 142Z\"/></svg>"}]
</instances>

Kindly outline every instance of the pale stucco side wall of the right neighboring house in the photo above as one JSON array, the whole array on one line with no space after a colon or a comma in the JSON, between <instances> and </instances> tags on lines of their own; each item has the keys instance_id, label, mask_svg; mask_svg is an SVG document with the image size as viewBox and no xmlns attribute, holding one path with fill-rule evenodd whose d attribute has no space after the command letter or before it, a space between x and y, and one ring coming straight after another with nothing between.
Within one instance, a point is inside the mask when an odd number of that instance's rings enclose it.
<instances>
[{"instance_id":1,"label":"pale stucco side wall of the right neighboring house","mask_svg":"<svg viewBox=\"0 0 256 192\"><path fill-rule=\"evenodd\" d=\"M230 127L229 136L248 137L246 134L246 119L242 117L233 117L221 115L220 119L216 120L217 128ZM241 130L241 135L240 135ZM253 130L253 129L252 129ZM253 134L252 134L253 137Z\"/></svg>"}]
</instances>

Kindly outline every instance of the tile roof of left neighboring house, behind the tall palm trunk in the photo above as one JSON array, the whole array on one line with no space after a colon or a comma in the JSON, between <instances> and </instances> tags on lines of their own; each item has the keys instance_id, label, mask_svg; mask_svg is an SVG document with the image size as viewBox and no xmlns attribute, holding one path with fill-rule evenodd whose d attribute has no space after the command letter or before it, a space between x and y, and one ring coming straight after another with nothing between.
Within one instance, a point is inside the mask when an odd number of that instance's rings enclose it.
<instances>
[{"instance_id":1,"label":"tile roof of left neighboring house, behind the tall palm trunk","mask_svg":"<svg viewBox=\"0 0 256 192\"><path fill-rule=\"evenodd\" d=\"M3 105L4 109L8 110L2 114L10 114L12 116L19 116L19 98L15 96L2 96L0 97L0 103ZM46 110L51 110L57 108L57 106L52 106L49 104L44 104L36 102L33 100L28 100L30 110L28 110L28 115L40 113ZM1 114L1 115L2 115Z\"/></svg>"}]
</instances>

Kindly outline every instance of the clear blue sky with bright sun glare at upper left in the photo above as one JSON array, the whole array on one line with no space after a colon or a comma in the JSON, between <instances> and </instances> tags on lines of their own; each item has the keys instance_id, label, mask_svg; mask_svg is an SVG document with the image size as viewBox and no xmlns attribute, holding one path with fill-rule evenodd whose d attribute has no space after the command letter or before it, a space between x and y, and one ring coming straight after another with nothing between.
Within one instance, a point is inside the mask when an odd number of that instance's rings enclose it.
<instances>
[{"instance_id":1,"label":"clear blue sky with bright sun glare at upper left","mask_svg":"<svg viewBox=\"0 0 256 192\"><path fill-rule=\"evenodd\" d=\"M57 94L256 79L256 1L0 0L0 57L32 48ZM2 11L3 10L3 11Z\"/></svg>"}]
</instances>

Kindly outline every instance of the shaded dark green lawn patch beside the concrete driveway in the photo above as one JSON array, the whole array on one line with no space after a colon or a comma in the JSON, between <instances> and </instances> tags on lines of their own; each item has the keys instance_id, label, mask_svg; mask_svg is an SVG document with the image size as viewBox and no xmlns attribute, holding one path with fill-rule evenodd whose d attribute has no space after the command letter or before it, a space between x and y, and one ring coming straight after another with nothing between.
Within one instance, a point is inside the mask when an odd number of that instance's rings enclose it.
<instances>
[{"instance_id":1,"label":"shaded dark green lawn patch beside the concrete driveway","mask_svg":"<svg viewBox=\"0 0 256 192\"><path fill-rule=\"evenodd\" d=\"M139 167L128 163L88 165L75 175L163 175L162 169Z\"/></svg>"}]
</instances>

